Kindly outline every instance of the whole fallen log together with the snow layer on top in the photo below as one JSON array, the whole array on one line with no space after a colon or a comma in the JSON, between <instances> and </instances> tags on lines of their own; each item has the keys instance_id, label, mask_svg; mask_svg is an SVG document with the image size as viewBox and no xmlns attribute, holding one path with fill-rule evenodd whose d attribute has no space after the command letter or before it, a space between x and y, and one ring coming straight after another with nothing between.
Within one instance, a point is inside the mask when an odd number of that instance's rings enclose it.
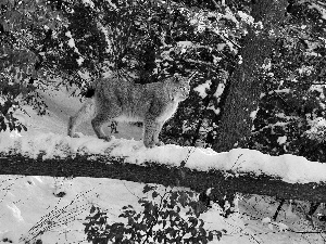
<instances>
[{"instance_id":1,"label":"whole fallen log together with the snow layer on top","mask_svg":"<svg viewBox=\"0 0 326 244\"><path fill-rule=\"evenodd\" d=\"M163 145L54 133L2 137L0 174L108 177L183 185L196 191L217 188L326 202L326 164L294 155L269 156L253 150L216 153L211 149ZM7 155L10 154L8 157Z\"/></svg>"}]
</instances>

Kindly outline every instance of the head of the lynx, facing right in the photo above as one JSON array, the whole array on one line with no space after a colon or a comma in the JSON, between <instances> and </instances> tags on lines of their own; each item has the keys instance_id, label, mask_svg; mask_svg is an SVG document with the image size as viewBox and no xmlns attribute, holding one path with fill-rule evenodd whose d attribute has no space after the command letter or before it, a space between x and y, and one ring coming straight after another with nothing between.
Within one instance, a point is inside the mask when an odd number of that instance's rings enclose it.
<instances>
[{"instance_id":1,"label":"head of the lynx, facing right","mask_svg":"<svg viewBox=\"0 0 326 244\"><path fill-rule=\"evenodd\" d=\"M170 97L173 100L184 101L188 98L190 92L189 86L190 79L187 77L181 77L179 75L175 75L168 79L168 90Z\"/></svg>"}]
</instances>

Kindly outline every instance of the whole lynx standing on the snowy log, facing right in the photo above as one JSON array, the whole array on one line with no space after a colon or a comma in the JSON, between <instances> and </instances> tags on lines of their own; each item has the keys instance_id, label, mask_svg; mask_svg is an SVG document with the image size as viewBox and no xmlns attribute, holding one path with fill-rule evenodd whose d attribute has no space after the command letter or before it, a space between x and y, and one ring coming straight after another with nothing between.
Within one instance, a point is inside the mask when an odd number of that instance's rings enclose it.
<instances>
[{"instance_id":1,"label":"whole lynx standing on the snowy log, facing right","mask_svg":"<svg viewBox=\"0 0 326 244\"><path fill-rule=\"evenodd\" d=\"M189 95L189 79L174 76L164 81L135 84L112 75L93 82L91 97L68 123L68 136L78 137L76 127L88 118L99 139L110 141L102 129L105 123L143 121L146 147L161 145L159 133L164 123L176 112L179 102Z\"/></svg>"}]
</instances>

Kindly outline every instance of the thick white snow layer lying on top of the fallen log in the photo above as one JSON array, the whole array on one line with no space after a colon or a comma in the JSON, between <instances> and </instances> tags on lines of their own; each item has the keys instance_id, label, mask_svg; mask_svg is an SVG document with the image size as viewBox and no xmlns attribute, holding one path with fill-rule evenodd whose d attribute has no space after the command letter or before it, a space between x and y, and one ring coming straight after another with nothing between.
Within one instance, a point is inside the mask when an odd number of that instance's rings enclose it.
<instances>
[{"instance_id":1,"label":"thick white snow layer lying on top of the fallen log","mask_svg":"<svg viewBox=\"0 0 326 244\"><path fill-rule=\"evenodd\" d=\"M141 141L113 138L111 142L105 142L95 137L70 138L55 133L13 137L8 132L7 136L0 141L3 153L22 154L32 158L38 158L40 155L43 159L65 158L77 154L102 155L124 158L124 162L136 165L159 162L166 167L179 167L181 162L188 158L186 167L191 170L230 170L239 176L266 175L289 183L326 182L326 164L290 154L271 156L248 149L216 153L212 149L173 144L147 149Z\"/></svg>"}]
</instances>

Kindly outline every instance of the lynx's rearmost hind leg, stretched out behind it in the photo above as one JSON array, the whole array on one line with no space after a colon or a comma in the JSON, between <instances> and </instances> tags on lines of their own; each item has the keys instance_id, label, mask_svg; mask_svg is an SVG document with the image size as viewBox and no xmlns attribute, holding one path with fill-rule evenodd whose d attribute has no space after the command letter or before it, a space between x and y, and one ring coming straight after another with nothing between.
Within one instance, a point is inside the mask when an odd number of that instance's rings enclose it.
<instances>
[{"instance_id":1,"label":"lynx's rearmost hind leg, stretched out behind it","mask_svg":"<svg viewBox=\"0 0 326 244\"><path fill-rule=\"evenodd\" d=\"M80 110L74 115L70 117L67 134L72 138L78 138L79 136L76 133L76 128L82 123L90 119L95 116L95 105L93 101L89 100L80 107Z\"/></svg>"}]
</instances>

